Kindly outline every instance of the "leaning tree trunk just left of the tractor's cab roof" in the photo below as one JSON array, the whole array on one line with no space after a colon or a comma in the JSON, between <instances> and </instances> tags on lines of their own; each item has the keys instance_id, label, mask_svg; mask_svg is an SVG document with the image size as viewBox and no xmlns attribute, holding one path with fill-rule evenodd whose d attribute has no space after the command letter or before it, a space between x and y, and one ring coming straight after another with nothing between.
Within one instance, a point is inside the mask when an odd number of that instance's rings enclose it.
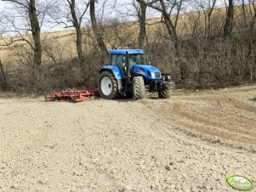
<instances>
[{"instance_id":1,"label":"leaning tree trunk just left of the tractor's cab roof","mask_svg":"<svg viewBox=\"0 0 256 192\"><path fill-rule=\"evenodd\" d=\"M97 24L96 16L95 16L95 0L90 1L90 18L94 30L94 36L96 38L96 41L98 42L98 45L100 47L100 50L102 54L108 55L108 51L105 47L105 42L103 41L102 34L100 32L100 28Z\"/></svg>"}]
</instances>

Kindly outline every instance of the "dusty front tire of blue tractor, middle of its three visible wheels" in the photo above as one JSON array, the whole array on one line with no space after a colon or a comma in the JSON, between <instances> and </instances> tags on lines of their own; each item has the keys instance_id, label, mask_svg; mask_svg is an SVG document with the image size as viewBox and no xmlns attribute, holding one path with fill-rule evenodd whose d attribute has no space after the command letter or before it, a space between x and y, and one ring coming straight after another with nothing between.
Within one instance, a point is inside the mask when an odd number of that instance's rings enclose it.
<instances>
[{"instance_id":1,"label":"dusty front tire of blue tractor, middle of its three visible wheels","mask_svg":"<svg viewBox=\"0 0 256 192\"><path fill-rule=\"evenodd\" d=\"M142 76L133 78L133 97L135 100L145 98L145 84Z\"/></svg>"}]
</instances>

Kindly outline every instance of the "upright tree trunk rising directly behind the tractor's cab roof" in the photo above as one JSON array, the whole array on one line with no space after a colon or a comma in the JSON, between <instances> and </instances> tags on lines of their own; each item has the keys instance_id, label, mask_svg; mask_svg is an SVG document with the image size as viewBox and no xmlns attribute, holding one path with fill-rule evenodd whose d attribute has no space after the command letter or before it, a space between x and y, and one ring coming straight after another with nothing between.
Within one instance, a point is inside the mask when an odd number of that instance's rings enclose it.
<instances>
[{"instance_id":1,"label":"upright tree trunk rising directly behind the tractor's cab roof","mask_svg":"<svg viewBox=\"0 0 256 192\"><path fill-rule=\"evenodd\" d=\"M146 5L144 3L139 3L140 7L140 13L139 13L139 37L138 37L138 42L139 42L139 48L144 47L145 43L145 36L146 36L146 31L145 31L145 14L146 14Z\"/></svg>"}]
</instances>

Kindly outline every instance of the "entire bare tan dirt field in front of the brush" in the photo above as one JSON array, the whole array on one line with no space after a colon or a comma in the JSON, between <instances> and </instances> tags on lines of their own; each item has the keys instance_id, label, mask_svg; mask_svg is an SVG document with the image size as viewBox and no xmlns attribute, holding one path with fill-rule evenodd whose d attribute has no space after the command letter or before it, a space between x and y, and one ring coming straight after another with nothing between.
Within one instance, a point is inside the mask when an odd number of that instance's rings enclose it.
<instances>
[{"instance_id":1,"label":"entire bare tan dirt field in front of the brush","mask_svg":"<svg viewBox=\"0 0 256 192\"><path fill-rule=\"evenodd\" d=\"M6 97L0 191L236 191L227 176L256 181L256 86L78 104Z\"/></svg>"}]
</instances>

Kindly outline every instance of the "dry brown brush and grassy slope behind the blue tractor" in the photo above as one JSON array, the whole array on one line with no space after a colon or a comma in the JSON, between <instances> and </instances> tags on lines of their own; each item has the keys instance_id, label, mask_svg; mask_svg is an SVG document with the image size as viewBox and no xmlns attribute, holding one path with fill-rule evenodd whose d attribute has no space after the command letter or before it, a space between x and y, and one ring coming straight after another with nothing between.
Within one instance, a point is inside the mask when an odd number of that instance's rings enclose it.
<instances>
[{"instance_id":1,"label":"dry brown brush and grassy slope behind the blue tractor","mask_svg":"<svg viewBox=\"0 0 256 192\"><path fill-rule=\"evenodd\" d=\"M230 37L223 37L225 8L213 8L210 15L209 8L172 15L173 22L178 17L179 54L176 53L174 39L168 36L163 19L146 20L143 46L145 60L151 61L164 72L170 72L180 88L222 88L254 82L256 62L253 21L256 14L253 5L234 9ZM100 31L108 49L138 48L138 22L108 20L100 25ZM25 38L32 42L31 37ZM1 41L0 44L3 44ZM85 72L82 72L77 58L75 30L43 33L42 46L43 65L36 72L36 78L32 77L35 76L32 70L33 52L26 42L14 42L8 47L0 47L0 58L9 90L42 92L55 88L92 86L97 71L103 62L108 62L108 57L100 51L90 27L82 28L82 62ZM182 67L187 71L185 78L180 71Z\"/></svg>"}]
</instances>

